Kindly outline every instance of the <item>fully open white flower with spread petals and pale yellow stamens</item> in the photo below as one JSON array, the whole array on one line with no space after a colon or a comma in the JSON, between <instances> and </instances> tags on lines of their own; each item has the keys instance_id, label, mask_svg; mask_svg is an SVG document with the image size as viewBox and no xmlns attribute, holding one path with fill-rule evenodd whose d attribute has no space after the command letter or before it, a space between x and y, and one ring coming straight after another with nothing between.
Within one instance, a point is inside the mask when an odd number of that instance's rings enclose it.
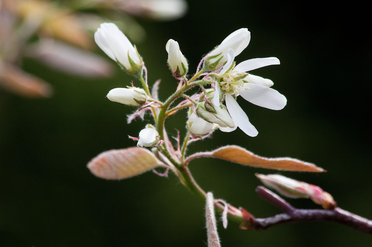
<instances>
[{"instance_id":1,"label":"fully open white flower with spread petals and pale yellow stamens","mask_svg":"<svg viewBox=\"0 0 372 247\"><path fill-rule=\"evenodd\" d=\"M216 93L212 102L215 106L220 105L219 96L224 94L227 110L235 124L247 135L256 136L257 129L249 122L246 113L238 105L234 96L241 95L246 101L268 109L283 109L287 99L278 91L269 88L273 84L271 80L246 73L280 62L276 57L255 58L241 62L230 70L233 61L234 51L229 49L228 61L219 73L219 82L215 83Z\"/></svg>"}]
</instances>

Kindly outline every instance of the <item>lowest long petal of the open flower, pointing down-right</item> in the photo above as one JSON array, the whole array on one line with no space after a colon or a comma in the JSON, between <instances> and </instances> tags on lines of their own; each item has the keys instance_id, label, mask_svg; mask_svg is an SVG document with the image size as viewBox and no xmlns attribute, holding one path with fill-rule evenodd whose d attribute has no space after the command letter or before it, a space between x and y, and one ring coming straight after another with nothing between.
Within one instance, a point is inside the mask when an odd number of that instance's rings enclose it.
<instances>
[{"instance_id":1,"label":"lowest long petal of the open flower, pointing down-right","mask_svg":"<svg viewBox=\"0 0 372 247\"><path fill-rule=\"evenodd\" d=\"M240 108L235 99L231 95L227 94L225 102L227 110L230 113L232 120L234 120L235 125L238 125L238 127L247 135L257 136L257 129L249 122L246 113Z\"/></svg>"}]
</instances>

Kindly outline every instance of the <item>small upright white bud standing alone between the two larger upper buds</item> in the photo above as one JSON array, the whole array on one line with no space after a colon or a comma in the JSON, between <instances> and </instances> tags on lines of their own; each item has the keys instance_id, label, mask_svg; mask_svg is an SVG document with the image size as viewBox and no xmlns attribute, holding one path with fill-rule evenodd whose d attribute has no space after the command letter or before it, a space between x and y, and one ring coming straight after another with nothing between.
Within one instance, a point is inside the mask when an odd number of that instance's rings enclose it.
<instances>
[{"instance_id":1,"label":"small upright white bud standing alone between the two larger upper buds","mask_svg":"<svg viewBox=\"0 0 372 247\"><path fill-rule=\"evenodd\" d=\"M186 75L189 66L187 65L185 56L183 56L180 50L178 42L170 39L165 48L168 52L168 65L173 75L176 77Z\"/></svg>"}]
</instances>

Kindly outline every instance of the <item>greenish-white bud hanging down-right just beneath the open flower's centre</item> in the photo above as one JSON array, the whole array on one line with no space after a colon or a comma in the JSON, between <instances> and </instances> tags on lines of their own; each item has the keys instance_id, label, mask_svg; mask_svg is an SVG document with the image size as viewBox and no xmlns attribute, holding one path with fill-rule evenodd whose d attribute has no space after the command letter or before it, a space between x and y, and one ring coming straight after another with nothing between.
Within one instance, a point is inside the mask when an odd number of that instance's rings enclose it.
<instances>
[{"instance_id":1,"label":"greenish-white bud hanging down-right just beneath the open flower's centre","mask_svg":"<svg viewBox=\"0 0 372 247\"><path fill-rule=\"evenodd\" d=\"M199 103L196 107L196 113L205 121L209 123L217 123L220 127L235 127L234 120L232 120L231 116L222 104L220 106L215 106L208 102Z\"/></svg>"}]
</instances>

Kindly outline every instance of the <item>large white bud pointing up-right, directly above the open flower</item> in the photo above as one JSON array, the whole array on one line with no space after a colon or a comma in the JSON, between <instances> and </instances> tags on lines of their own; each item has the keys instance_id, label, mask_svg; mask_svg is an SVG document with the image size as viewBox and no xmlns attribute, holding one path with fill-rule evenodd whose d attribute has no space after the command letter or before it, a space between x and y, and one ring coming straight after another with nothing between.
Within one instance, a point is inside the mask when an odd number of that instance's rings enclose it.
<instances>
[{"instance_id":1,"label":"large white bud pointing up-right, directly above the open flower","mask_svg":"<svg viewBox=\"0 0 372 247\"><path fill-rule=\"evenodd\" d=\"M227 51L229 49L232 49L235 56L238 56L248 46L250 40L251 33L247 28L241 28L232 32L219 46L206 55L204 66L212 71L218 70L227 62Z\"/></svg>"}]
</instances>

